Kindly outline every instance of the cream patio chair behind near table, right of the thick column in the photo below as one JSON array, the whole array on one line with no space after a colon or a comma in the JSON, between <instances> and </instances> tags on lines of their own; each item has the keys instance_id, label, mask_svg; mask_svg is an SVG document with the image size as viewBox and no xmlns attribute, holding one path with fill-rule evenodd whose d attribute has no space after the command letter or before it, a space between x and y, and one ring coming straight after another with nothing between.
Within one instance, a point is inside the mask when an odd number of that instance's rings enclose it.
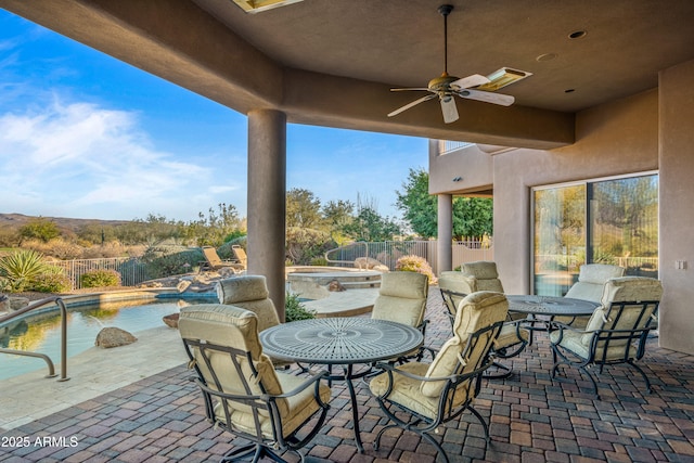
<instances>
[{"instance_id":1,"label":"cream patio chair behind near table, right of the thick column","mask_svg":"<svg viewBox=\"0 0 694 463\"><path fill-rule=\"evenodd\" d=\"M428 291L429 282L424 273L384 273L381 276L381 287L373 304L371 318L414 326L424 335L428 323L428 320L424 319ZM422 353L422 349L413 352L415 356ZM407 355L400 360L404 361L409 357L411 356Z\"/></svg>"}]
</instances>

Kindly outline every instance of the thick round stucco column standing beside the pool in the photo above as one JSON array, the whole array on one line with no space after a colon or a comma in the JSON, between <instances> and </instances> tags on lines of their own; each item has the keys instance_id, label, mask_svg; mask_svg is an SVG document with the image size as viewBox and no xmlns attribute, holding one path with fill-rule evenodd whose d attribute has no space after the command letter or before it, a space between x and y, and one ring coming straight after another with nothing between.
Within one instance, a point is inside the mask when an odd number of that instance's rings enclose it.
<instances>
[{"instance_id":1,"label":"thick round stucco column standing beside the pool","mask_svg":"<svg viewBox=\"0 0 694 463\"><path fill-rule=\"evenodd\" d=\"M284 321L286 229L286 115L248 113L248 274L265 275Z\"/></svg>"}]
</instances>

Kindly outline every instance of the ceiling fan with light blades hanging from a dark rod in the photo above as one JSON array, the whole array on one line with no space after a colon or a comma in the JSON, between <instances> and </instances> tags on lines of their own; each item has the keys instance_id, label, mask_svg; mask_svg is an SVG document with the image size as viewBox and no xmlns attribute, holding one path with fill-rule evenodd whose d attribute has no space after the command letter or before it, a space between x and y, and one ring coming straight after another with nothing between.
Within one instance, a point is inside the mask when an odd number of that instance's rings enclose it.
<instances>
[{"instance_id":1,"label":"ceiling fan with light blades hanging from a dark rod","mask_svg":"<svg viewBox=\"0 0 694 463\"><path fill-rule=\"evenodd\" d=\"M531 76L530 73L511 67L502 67L490 74L489 77L479 74L473 74L472 76L463 78L450 76L448 74L448 15L451 11L453 11L453 5L451 4L442 4L438 8L438 12L444 16L444 73L439 77L429 80L426 88L390 89L390 91L428 91L430 94L395 110L388 114L388 117L396 116L420 103L438 97L441 104L444 123L454 123L459 119L454 95L509 106L513 104L515 99L507 94L493 93L493 91Z\"/></svg>"}]
</instances>

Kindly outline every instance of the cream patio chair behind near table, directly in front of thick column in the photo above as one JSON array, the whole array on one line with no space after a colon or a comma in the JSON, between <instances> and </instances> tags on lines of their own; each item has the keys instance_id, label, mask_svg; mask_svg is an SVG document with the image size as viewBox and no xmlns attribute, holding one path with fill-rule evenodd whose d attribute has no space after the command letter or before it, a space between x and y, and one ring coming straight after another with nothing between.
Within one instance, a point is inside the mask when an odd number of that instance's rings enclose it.
<instances>
[{"instance_id":1,"label":"cream patio chair behind near table, directly in front of thick column","mask_svg":"<svg viewBox=\"0 0 694 463\"><path fill-rule=\"evenodd\" d=\"M216 284L220 304L250 310L258 317L258 332L280 324L274 303L264 275L239 275L220 280ZM287 368L293 362L271 358L275 368Z\"/></svg>"}]
</instances>

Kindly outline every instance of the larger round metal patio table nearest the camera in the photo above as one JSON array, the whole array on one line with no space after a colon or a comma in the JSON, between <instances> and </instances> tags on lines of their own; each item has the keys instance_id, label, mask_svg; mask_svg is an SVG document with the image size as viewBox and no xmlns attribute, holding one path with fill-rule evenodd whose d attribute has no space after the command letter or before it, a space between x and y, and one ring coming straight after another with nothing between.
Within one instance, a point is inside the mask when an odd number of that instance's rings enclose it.
<instances>
[{"instance_id":1,"label":"larger round metal patio table nearest the camera","mask_svg":"<svg viewBox=\"0 0 694 463\"><path fill-rule=\"evenodd\" d=\"M269 327L260 333L260 343L270 357L327 365L330 381L346 383L351 399L355 441L363 453L352 380L365 376L371 369L355 372L354 366L401 357L422 346L424 336L415 327L387 320L336 317L299 320ZM333 374L332 365L339 365L342 374Z\"/></svg>"}]
</instances>

